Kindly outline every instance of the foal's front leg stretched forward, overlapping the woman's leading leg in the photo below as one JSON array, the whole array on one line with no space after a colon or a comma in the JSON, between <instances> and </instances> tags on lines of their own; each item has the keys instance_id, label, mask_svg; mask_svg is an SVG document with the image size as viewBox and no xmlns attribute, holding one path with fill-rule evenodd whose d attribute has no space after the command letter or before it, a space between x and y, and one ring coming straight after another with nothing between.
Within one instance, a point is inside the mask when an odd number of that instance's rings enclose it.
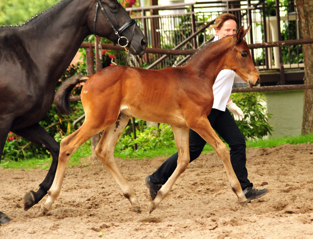
<instances>
[{"instance_id":1,"label":"foal's front leg stretched forward, overlapping the woman's leading leg","mask_svg":"<svg viewBox=\"0 0 313 239\"><path fill-rule=\"evenodd\" d=\"M238 202L241 205L246 205L246 196L230 163L229 150L223 141L217 136L209 120L206 117L201 117L196 121L193 120L192 123L189 124L189 127L196 131L207 143L209 143L217 155L222 159L231 189L237 195Z\"/></svg>"}]
</instances>

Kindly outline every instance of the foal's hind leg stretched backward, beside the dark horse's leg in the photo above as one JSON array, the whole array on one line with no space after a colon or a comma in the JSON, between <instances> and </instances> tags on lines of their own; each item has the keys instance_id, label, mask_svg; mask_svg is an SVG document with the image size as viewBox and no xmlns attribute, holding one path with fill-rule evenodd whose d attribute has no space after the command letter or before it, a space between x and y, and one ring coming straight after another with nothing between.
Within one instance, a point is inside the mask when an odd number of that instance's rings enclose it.
<instances>
[{"instance_id":1,"label":"foal's hind leg stretched backward, beside the dark horse's leg","mask_svg":"<svg viewBox=\"0 0 313 239\"><path fill-rule=\"evenodd\" d=\"M85 121L78 130L61 141L59 163L55 177L52 186L48 191L48 197L41 206L43 215L48 213L51 205L60 194L65 169L70 157L79 148L79 146L87 142L93 135L99 133L101 130L102 128L97 128L94 125L90 126L90 124Z\"/></svg>"}]
</instances>

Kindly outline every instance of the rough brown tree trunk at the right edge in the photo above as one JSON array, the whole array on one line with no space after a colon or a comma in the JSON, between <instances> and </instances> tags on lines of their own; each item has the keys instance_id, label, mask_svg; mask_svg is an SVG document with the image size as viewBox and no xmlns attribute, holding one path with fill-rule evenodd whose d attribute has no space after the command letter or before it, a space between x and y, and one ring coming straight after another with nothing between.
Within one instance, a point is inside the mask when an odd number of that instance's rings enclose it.
<instances>
[{"instance_id":1,"label":"rough brown tree trunk at the right edge","mask_svg":"<svg viewBox=\"0 0 313 239\"><path fill-rule=\"evenodd\" d=\"M295 1L303 39L313 38L313 0ZM313 84L313 44L303 45L304 84ZM302 134L313 133L313 90L304 90Z\"/></svg>"}]
</instances>

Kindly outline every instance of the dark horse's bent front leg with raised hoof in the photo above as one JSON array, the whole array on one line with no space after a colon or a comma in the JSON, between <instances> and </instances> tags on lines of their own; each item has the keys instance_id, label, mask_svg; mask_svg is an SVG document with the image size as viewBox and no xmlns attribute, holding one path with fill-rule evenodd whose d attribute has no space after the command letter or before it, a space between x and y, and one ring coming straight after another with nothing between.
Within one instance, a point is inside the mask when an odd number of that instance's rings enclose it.
<instances>
[{"instance_id":1,"label":"dark horse's bent front leg with raised hoof","mask_svg":"<svg viewBox=\"0 0 313 239\"><path fill-rule=\"evenodd\" d=\"M51 153L52 163L44 181L39 185L38 191L28 191L24 196L24 210L27 211L37 204L50 189L54 180L54 175L58 167L58 158L60 152L60 144L57 143L51 135L39 124L35 123L24 129L15 130L14 133L23 138L44 147Z\"/></svg>"}]
</instances>

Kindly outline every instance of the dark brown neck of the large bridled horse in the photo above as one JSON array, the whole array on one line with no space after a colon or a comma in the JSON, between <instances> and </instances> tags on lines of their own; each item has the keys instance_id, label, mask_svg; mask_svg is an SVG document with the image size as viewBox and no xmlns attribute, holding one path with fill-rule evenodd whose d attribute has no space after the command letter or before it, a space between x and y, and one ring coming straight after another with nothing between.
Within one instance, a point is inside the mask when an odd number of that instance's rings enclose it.
<instances>
[{"instance_id":1,"label":"dark brown neck of the large bridled horse","mask_svg":"<svg viewBox=\"0 0 313 239\"><path fill-rule=\"evenodd\" d=\"M59 78L87 37L83 0L63 0L19 29L32 60L49 79Z\"/></svg>"}]
</instances>

